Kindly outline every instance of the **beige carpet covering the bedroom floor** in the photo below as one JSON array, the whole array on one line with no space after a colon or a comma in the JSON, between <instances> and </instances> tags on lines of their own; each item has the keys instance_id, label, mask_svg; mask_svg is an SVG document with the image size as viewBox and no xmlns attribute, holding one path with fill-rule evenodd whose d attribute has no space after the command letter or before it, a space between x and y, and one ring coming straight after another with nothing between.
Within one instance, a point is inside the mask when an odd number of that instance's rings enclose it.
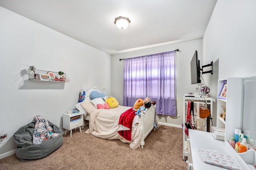
<instances>
[{"instance_id":1,"label":"beige carpet covering the bedroom floor","mask_svg":"<svg viewBox=\"0 0 256 170\"><path fill-rule=\"evenodd\" d=\"M182 160L182 129L160 125L143 149L119 140L84 134L88 126L63 135L63 145L49 156L21 162L16 154L0 159L0 170L186 170Z\"/></svg>"}]
</instances>

